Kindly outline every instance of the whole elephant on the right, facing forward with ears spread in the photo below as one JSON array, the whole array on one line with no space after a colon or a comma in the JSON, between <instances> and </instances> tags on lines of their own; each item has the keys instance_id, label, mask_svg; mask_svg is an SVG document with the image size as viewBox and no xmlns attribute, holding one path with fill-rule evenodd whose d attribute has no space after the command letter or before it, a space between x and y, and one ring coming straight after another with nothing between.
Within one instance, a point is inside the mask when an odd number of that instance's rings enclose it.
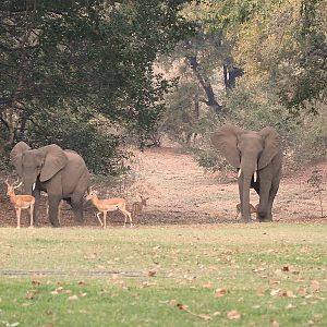
<instances>
[{"instance_id":1,"label":"whole elephant on the right, facing forward with ears spread","mask_svg":"<svg viewBox=\"0 0 327 327\"><path fill-rule=\"evenodd\" d=\"M257 219L271 221L282 164L279 134L271 128L253 132L226 124L211 134L211 142L239 171L242 219L251 221L250 187L253 187L259 195Z\"/></svg>"}]
</instances>

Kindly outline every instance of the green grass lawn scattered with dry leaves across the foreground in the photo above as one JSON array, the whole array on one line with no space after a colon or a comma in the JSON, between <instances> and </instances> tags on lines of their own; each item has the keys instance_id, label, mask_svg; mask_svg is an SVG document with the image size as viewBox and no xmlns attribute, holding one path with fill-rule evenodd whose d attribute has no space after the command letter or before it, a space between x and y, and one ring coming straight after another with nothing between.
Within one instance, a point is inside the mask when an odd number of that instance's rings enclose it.
<instances>
[{"instance_id":1,"label":"green grass lawn scattered with dry leaves across the foreground","mask_svg":"<svg viewBox=\"0 0 327 327\"><path fill-rule=\"evenodd\" d=\"M327 225L2 228L0 246L0 326L327 326Z\"/></svg>"}]
</instances>

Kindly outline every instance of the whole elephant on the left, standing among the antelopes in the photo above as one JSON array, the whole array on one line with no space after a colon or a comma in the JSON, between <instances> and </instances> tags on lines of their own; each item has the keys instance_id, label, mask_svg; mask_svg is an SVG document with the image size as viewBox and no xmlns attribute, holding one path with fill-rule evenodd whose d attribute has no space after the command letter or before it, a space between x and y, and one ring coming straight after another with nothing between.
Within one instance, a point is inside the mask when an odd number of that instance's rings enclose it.
<instances>
[{"instance_id":1,"label":"whole elephant on the left, standing among the antelopes","mask_svg":"<svg viewBox=\"0 0 327 327\"><path fill-rule=\"evenodd\" d=\"M10 158L24 183L26 194L35 196L34 222L37 223L40 191L48 193L49 219L59 227L58 206L65 199L73 208L77 225L83 225L84 194L89 186L89 172L83 158L73 150L56 144L31 149L17 143Z\"/></svg>"}]
</instances>

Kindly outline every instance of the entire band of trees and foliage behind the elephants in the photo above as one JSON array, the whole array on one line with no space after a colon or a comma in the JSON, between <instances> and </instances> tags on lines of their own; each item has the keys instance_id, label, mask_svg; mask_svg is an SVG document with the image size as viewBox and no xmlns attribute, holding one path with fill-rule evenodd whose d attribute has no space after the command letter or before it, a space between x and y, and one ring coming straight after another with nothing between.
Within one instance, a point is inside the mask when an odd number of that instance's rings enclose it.
<instances>
[{"instance_id":1,"label":"entire band of trees and foliage behind the elephants","mask_svg":"<svg viewBox=\"0 0 327 327\"><path fill-rule=\"evenodd\" d=\"M78 152L96 174L165 137L208 169L228 122L282 135L287 161L326 159L323 0L4 0L0 168L25 141Z\"/></svg>"}]
</instances>

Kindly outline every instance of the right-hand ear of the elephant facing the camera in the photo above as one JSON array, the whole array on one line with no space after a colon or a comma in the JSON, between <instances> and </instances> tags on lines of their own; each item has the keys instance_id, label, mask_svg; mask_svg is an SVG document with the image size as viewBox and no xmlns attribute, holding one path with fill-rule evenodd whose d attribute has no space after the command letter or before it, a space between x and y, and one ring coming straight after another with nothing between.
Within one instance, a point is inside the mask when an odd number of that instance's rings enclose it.
<instances>
[{"instance_id":1,"label":"right-hand ear of the elephant facing the camera","mask_svg":"<svg viewBox=\"0 0 327 327\"><path fill-rule=\"evenodd\" d=\"M264 138L264 150L258 160L258 169L265 168L281 149L279 134L272 128L265 128L258 132Z\"/></svg>"}]
</instances>

